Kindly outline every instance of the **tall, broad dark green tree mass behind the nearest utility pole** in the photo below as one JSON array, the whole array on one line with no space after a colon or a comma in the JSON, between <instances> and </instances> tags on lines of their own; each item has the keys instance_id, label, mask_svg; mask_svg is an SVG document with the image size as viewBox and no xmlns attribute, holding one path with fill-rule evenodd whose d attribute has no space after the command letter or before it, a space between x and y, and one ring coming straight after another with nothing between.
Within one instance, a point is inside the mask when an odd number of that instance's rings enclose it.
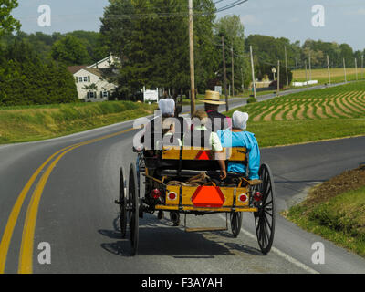
<instances>
[{"instance_id":1,"label":"tall, broad dark green tree mass behind the nearest utility pole","mask_svg":"<svg viewBox=\"0 0 365 292\"><path fill-rule=\"evenodd\" d=\"M211 0L194 1L196 86L214 76ZM171 89L190 85L188 7L185 0L110 0L100 33L110 51L120 56L119 89L129 97L143 86Z\"/></svg>"}]
</instances>

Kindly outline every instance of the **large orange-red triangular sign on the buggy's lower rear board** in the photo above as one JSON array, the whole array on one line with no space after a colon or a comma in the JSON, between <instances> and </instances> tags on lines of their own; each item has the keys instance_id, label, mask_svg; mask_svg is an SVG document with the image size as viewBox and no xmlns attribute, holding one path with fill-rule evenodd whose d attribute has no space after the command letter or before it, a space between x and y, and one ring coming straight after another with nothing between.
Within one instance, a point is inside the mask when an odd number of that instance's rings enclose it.
<instances>
[{"instance_id":1,"label":"large orange-red triangular sign on the buggy's lower rear board","mask_svg":"<svg viewBox=\"0 0 365 292\"><path fill-rule=\"evenodd\" d=\"M219 208L223 206L225 198L217 186L199 186L193 194L192 202L195 207Z\"/></svg>"}]
</instances>

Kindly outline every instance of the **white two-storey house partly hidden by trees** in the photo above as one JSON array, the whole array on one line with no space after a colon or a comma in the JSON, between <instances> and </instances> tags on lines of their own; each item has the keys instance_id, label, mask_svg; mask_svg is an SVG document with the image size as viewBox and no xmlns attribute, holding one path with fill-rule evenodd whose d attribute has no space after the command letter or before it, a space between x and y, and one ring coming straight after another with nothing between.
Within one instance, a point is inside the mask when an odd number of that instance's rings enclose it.
<instances>
[{"instance_id":1,"label":"white two-storey house partly hidden by trees","mask_svg":"<svg viewBox=\"0 0 365 292\"><path fill-rule=\"evenodd\" d=\"M86 102L106 101L117 85L102 78L102 70L118 62L117 57L109 56L90 66L68 67L76 82L78 99Z\"/></svg>"}]
</instances>

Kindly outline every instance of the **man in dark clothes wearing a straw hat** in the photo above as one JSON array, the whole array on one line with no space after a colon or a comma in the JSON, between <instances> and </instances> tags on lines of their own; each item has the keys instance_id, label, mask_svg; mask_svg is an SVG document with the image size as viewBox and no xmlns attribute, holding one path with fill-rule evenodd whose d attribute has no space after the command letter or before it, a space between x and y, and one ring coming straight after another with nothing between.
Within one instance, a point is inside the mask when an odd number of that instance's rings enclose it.
<instances>
[{"instance_id":1,"label":"man in dark clothes wearing a straw hat","mask_svg":"<svg viewBox=\"0 0 365 292\"><path fill-rule=\"evenodd\" d=\"M207 90L203 103L205 104L205 111L208 114L208 118L212 121L212 130L214 132L227 129L231 126L231 119L218 111L219 106L225 104L224 101L220 100L219 92Z\"/></svg>"}]
</instances>

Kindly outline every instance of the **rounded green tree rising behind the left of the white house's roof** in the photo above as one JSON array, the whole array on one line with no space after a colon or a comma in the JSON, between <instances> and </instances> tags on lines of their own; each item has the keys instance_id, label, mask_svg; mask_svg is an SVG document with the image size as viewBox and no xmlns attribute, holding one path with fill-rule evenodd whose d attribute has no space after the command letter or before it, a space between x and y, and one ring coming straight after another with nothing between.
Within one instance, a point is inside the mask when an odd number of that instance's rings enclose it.
<instances>
[{"instance_id":1,"label":"rounded green tree rising behind the left of the white house's roof","mask_svg":"<svg viewBox=\"0 0 365 292\"><path fill-rule=\"evenodd\" d=\"M75 36L64 36L57 40L52 46L51 54L54 60L67 66L91 62L88 49Z\"/></svg>"}]
</instances>

